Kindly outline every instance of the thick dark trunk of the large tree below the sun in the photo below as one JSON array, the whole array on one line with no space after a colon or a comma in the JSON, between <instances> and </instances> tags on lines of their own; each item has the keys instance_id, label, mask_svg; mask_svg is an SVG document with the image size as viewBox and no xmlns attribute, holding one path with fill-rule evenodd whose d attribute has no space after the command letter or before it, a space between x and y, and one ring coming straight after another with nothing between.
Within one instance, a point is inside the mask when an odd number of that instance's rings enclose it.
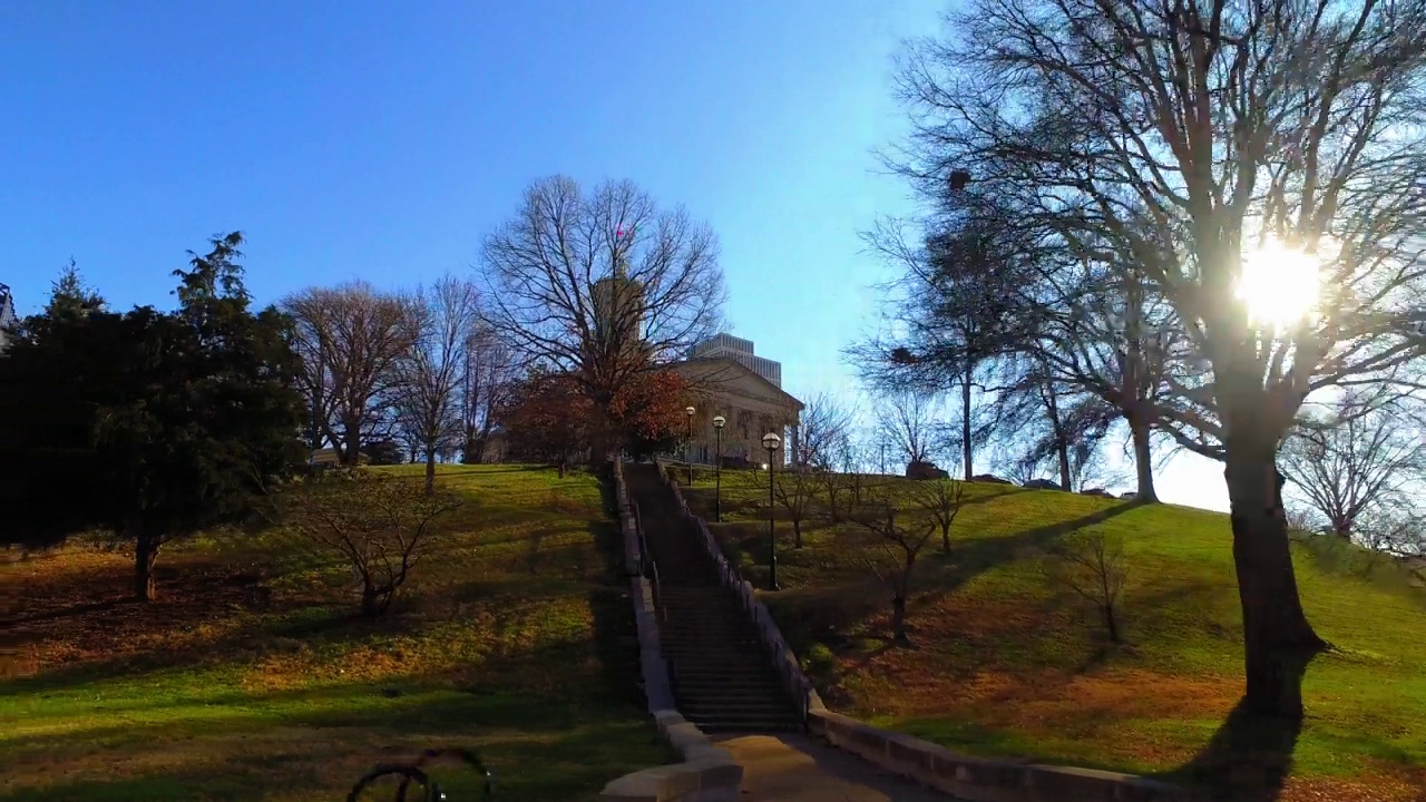
<instances>
[{"instance_id":1,"label":"thick dark trunk of the large tree below the sun","mask_svg":"<svg viewBox=\"0 0 1426 802\"><path fill-rule=\"evenodd\" d=\"M1258 442L1231 442L1224 471L1243 615L1243 668L1248 679L1243 701L1259 715L1301 719L1302 675L1298 666L1326 644L1302 611L1282 511L1282 475L1272 451Z\"/></svg>"}]
</instances>

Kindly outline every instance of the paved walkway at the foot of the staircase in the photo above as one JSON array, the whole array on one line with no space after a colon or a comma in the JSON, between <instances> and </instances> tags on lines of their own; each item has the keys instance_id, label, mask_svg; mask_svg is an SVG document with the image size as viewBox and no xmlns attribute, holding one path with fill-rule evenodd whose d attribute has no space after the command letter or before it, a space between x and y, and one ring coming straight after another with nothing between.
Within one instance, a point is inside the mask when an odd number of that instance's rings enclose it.
<instances>
[{"instance_id":1,"label":"paved walkway at the foot of the staircase","mask_svg":"<svg viewBox=\"0 0 1426 802\"><path fill-rule=\"evenodd\" d=\"M804 735L730 735L714 741L743 765L744 802L953 799Z\"/></svg>"}]
</instances>

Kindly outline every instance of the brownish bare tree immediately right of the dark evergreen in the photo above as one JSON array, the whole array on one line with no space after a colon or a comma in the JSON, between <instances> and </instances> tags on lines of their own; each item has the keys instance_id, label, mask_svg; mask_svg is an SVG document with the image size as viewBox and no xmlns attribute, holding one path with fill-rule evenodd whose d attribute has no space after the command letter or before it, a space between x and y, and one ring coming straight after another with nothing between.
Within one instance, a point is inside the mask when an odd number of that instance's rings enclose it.
<instances>
[{"instance_id":1,"label":"brownish bare tree immediately right of the dark evergreen","mask_svg":"<svg viewBox=\"0 0 1426 802\"><path fill-rule=\"evenodd\" d=\"M292 318L292 347L302 358L312 448L328 441L342 464L356 465L361 448L391 430L395 368L411 348L405 303L358 281L311 287L281 307Z\"/></svg>"}]
</instances>

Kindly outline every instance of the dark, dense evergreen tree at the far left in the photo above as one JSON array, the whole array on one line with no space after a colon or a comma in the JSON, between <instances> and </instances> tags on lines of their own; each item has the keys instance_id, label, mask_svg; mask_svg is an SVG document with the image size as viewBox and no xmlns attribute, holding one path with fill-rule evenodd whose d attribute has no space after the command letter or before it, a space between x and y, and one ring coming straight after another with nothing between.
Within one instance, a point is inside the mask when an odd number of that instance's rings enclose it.
<instances>
[{"instance_id":1,"label":"dark, dense evergreen tree at the far left","mask_svg":"<svg viewBox=\"0 0 1426 802\"><path fill-rule=\"evenodd\" d=\"M133 541L141 599L163 544L244 519L301 461L287 318L250 310L241 243L214 238L175 271L174 313L76 315L61 278L4 377L16 417L0 440L20 462L41 457L13 499L31 521L20 537L51 544L88 525Z\"/></svg>"}]
</instances>

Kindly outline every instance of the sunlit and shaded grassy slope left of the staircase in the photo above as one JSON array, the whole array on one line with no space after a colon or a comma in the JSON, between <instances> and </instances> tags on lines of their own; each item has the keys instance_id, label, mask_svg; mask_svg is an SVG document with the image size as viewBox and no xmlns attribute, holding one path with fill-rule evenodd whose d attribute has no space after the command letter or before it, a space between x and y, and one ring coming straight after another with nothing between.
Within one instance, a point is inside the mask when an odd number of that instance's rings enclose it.
<instances>
[{"instance_id":1,"label":"sunlit and shaded grassy slope left of the staircase","mask_svg":"<svg viewBox=\"0 0 1426 802\"><path fill-rule=\"evenodd\" d=\"M124 601L124 552L11 555L0 801L329 802L372 765L442 745L478 749L499 799L573 801L672 759L633 684L595 479L439 478L468 502L381 622L351 616L341 564L277 532L175 547L151 605ZM442 779L475 799L472 781Z\"/></svg>"}]
</instances>

